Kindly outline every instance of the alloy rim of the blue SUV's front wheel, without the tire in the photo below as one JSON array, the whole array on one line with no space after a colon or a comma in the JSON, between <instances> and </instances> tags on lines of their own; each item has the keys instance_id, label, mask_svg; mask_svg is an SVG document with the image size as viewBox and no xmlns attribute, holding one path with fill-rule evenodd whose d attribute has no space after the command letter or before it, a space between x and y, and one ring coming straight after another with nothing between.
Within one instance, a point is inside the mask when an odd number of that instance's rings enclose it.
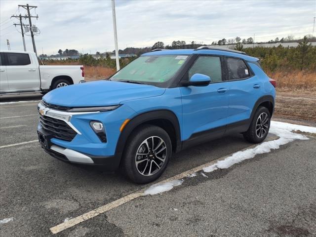
<instances>
[{"instance_id":1,"label":"alloy rim of the blue SUV's front wheel, without the tire","mask_svg":"<svg viewBox=\"0 0 316 237\"><path fill-rule=\"evenodd\" d=\"M137 171L144 176L157 173L167 157L167 146L162 138L152 136L146 138L138 147L135 164Z\"/></svg>"}]
</instances>

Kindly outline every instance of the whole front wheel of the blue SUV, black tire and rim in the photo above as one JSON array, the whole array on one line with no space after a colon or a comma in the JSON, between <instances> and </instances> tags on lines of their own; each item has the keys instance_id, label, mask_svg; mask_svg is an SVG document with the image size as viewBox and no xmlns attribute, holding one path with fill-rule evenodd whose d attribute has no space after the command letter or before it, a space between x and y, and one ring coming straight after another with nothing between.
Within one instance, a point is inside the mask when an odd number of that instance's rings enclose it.
<instances>
[{"instance_id":1,"label":"whole front wheel of the blue SUV, black tire and rim","mask_svg":"<svg viewBox=\"0 0 316 237\"><path fill-rule=\"evenodd\" d=\"M158 126L142 125L127 140L121 170L137 184L150 183L166 169L171 154L168 133Z\"/></svg>"}]
</instances>

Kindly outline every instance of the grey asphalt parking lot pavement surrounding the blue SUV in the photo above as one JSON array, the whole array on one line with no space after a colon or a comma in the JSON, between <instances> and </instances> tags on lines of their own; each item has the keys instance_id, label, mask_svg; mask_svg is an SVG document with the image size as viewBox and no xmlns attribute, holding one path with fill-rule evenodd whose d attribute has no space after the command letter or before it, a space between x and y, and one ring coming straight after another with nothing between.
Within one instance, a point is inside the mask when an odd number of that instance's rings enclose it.
<instances>
[{"instance_id":1,"label":"grey asphalt parking lot pavement surrounding the blue SUV","mask_svg":"<svg viewBox=\"0 0 316 237\"><path fill-rule=\"evenodd\" d=\"M316 236L315 136L228 169L197 172L169 192L135 198L53 235L49 229L65 220L147 186L47 155L36 141L40 96L1 103L21 100L34 102L0 105L0 220L12 218L0 224L1 237ZM236 134L182 151L159 181L249 146Z\"/></svg>"}]
</instances>

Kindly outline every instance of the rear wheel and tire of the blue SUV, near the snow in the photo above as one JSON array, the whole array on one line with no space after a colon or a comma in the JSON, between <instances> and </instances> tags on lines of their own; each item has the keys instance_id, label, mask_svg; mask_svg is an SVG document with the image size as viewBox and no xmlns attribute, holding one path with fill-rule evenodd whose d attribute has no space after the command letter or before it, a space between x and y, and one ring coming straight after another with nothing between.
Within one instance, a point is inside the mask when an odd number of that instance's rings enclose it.
<instances>
[{"instance_id":1,"label":"rear wheel and tire of the blue SUV, near the snow","mask_svg":"<svg viewBox=\"0 0 316 237\"><path fill-rule=\"evenodd\" d=\"M244 139L251 143L264 141L269 133L270 123L271 115L269 110L263 106L258 107L248 130L243 133Z\"/></svg>"}]
</instances>

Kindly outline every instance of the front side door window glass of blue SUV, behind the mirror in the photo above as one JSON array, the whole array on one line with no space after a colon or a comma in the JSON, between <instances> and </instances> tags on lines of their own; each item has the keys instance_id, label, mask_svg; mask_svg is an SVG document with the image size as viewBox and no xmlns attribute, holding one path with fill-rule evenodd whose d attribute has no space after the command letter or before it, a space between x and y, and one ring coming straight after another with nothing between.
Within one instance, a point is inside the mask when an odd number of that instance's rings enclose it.
<instances>
[{"instance_id":1,"label":"front side door window glass of blue SUV, behind the mirror","mask_svg":"<svg viewBox=\"0 0 316 237\"><path fill-rule=\"evenodd\" d=\"M189 70L189 79L196 73L207 75L211 81L222 80L222 67L220 57L199 56Z\"/></svg>"}]
</instances>

